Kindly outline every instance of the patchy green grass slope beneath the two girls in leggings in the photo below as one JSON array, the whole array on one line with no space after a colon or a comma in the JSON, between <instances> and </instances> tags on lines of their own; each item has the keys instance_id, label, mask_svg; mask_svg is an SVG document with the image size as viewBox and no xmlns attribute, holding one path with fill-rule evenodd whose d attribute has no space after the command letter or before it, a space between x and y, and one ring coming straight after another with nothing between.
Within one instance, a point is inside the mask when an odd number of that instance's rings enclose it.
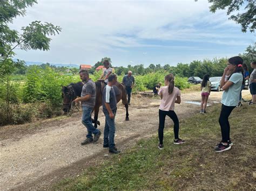
<instances>
[{"instance_id":1,"label":"patchy green grass slope beneath the two girls in leggings","mask_svg":"<svg viewBox=\"0 0 256 191\"><path fill-rule=\"evenodd\" d=\"M168 127L164 150L158 150L157 136L142 139L102 165L86 169L79 178L59 182L54 189L255 189L256 107L234 109L230 116L234 146L216 153L214 145L221 139L220 106L209 107L207 115L181 120L180 138L187 140L185 144L174 145L173 131Z\"/></svg>"}]
</instances>

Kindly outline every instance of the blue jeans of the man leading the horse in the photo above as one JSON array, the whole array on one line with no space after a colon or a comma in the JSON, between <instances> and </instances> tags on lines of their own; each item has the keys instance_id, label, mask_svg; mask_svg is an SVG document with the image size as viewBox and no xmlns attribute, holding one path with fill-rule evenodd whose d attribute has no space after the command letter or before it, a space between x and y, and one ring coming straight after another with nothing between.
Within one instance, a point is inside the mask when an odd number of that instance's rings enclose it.
<instances>
[{"instance_id":1,"label":"blue jeans of the man leading the horse","mask_svg":"<svg viewBox=\"0 0 256 191\"><path fill-rule=\"evenodd\" d=\"M83 106L82 123L87 128L88 134L86 135L86 137L89 139L92 139L92 133L96 135L99 132L99 130L95 129L95 127L92 125L92 119L91 119L92 110L93 108Z\"/></svg>"}]
</instances>

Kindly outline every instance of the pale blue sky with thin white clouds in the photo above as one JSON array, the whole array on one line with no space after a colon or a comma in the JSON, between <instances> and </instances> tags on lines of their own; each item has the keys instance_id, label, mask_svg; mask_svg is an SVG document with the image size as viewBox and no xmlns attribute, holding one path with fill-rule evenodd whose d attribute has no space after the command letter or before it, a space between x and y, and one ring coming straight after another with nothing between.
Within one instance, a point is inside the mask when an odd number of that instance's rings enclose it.
<instances>
[{"instance_id":1,"label":"pale blue sky with thin white clouds","mask_svg":"<svg viewBox=\"0 0 256 191\"><path fill-rule=\"evenodd\" d=\"M107 56L113 66L189 63L230 57L255 41L225 11L212 13L206 0L39 0L11 24L20 30L33 20L62 27L50 51L22 51L17 59L94 65Z\"/></svg>"}]
</instances>

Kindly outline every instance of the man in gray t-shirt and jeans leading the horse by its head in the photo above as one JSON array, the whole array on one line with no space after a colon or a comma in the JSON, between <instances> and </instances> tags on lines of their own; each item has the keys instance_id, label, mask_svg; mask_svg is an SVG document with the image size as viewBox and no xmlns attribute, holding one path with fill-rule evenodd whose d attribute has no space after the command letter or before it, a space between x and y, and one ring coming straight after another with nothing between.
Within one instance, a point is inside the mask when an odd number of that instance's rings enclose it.
<instances>
[{"instance_id":1,"label":"man in gray t-shirt and jeans leading the horse by its head","mask_svg":"<svg viewBox=\"0 0 256 191\"><path fill-rule=\"evenodd\" d=\"M84 86L82 89L81 97L78 97L74 100L74 102L82 102L83 107L83 117L82 123L87 128L86 139L81 143L82 145L86 145L92 142L97 142L100 135L102 134L98 129L92 125L91 113L93 108L95 107L96 101L96 86L95 83L90 79L89 73L87 70L81 70L79 72L80 79L84 82ZM95 135L94 139L92 137L92 133Z\"/></svg>"}]
</instances>

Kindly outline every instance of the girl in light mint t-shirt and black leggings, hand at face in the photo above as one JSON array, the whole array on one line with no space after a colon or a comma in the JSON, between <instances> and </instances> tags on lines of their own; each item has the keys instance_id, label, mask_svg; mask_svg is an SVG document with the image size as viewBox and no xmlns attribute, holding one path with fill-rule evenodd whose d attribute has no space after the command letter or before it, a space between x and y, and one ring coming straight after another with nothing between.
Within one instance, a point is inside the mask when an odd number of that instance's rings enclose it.
<instances>
[{"instance_id":1,"label":"girl in light mint t-shirt and black leggings, hand at face","mask_svg":"<svg viewBox=\"0 0 256 191\"><path fill-rule=\"evenodd\" d=\"M228 59L227 67L224 69L223 77L220 81L220 87L224 90L221 98L221 112L219 116L219 124L221 129L221 142L215 147L216 152L223 152L231 149L233 143L230 140L230 123L228 117L232 110L238 105L239 94L242 86L242 58L234 56ZM225 82L225 75L230 73Z\"/></svg>"}]
</instances>

